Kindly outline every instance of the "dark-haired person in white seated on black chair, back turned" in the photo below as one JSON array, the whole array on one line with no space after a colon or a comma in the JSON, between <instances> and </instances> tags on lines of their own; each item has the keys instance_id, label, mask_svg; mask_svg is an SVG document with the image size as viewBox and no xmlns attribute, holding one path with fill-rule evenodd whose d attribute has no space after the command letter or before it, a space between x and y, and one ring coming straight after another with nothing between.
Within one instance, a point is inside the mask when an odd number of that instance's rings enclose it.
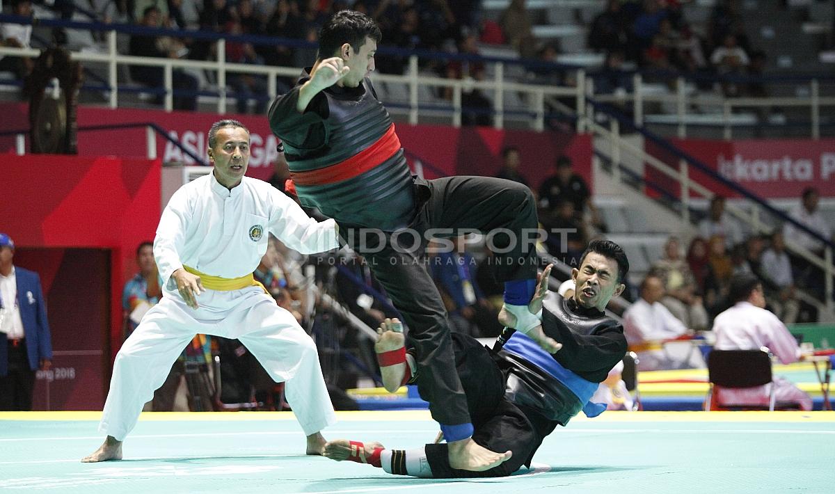
<instances>
[{"instance_id":1,"label":"dark-haired person in white seated on black chair, back turned","mask_svg":"<svg viewBox=\"0 0 835 494\"><path fill-rule=\"evenodd\" d=\"M716 350L758 350L765 346L783 364L797 361L797 340L776 315L765 309L765 295L756 276L736 276L731 281L729 298L734 305L717 315L713 323ZM803 411L812 410L812 398L780 376L773 377L772 385L740 389L716 386L714 392L717 401L724 405L767 406L768 386L775 386L778 404L791 403Z\"/></svg>"}]
</instances>

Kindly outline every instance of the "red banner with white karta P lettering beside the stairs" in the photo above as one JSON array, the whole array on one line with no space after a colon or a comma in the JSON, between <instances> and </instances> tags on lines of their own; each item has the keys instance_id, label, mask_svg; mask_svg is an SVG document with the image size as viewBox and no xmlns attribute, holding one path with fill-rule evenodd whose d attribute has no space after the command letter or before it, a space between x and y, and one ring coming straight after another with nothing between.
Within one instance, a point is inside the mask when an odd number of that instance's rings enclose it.
<instances>
[{"instance_id":1,"label":"red banner with white karta P lettering beside the stairs","mask_svg":"<svg viewBox=\"0 0 835 494\"><path fill-rule=\"evenodd\" d=\"M835 197L835 139L778 139L717 141L706 139L671 139L686 154L706 164L721 177L766 199L797 199L807 187L816 187L824 197ZM673 168L678 159L647 144L646 149ZM691 179L712 191L728 197L739 197L707 174L689 168ZM647 179L655 179L678 194L678 184L661 179L660 174L647 171Z\"/></svg>"}]
</instances>

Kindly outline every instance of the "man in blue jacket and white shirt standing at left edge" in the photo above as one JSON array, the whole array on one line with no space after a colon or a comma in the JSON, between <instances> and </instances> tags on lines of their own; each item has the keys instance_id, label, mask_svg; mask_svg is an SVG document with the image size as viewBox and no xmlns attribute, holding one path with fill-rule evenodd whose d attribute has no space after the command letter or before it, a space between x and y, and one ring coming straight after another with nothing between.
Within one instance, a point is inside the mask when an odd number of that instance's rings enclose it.
<instances>
[{"instance_id":1,"label":"man in blue jacket and white shirt standing at left edge","mask_svg":"<svg viewBox=\"0 0 835 494\"><path fill-rule=\"evenodd\" d=\"M13 257L14 242L0 234L0 411L28 411L35 370L52 365L52 339L41 280Z\"/></svg>"}]
</instances>

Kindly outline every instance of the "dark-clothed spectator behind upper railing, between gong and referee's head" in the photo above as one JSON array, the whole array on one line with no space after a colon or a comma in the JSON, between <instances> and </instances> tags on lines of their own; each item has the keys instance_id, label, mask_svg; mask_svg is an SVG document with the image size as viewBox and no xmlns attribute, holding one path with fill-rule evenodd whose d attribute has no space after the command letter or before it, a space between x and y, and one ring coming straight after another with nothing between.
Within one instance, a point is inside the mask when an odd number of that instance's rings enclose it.
<instances>
[{"instance_id":1,"label":"dark-clothed spectator behind upper railing, between gong and referee's head","mask_svg":"<svg viewBox=\"0 0 835 494\"><path fill-rule=\"evenodd\" d=\"M159 28L161 20L159 8L151 6L144 9L142 21L139 24L145 28ZM170 38L158 38L153 34L134 34L130 37L129 53L138 57L181 58L185 55L181 51L183 48L182 45L171 43ZM164 84L162 67L131 65L130 77L149 88L162 88ZM174 69L172 78L172 89L175 88L174 108L182 110L197 109L197 95L195 94L198 88L197 78L179 68ZM176 94L178 90L190 94L178 95Z\"/></svg>"}]
</instances>

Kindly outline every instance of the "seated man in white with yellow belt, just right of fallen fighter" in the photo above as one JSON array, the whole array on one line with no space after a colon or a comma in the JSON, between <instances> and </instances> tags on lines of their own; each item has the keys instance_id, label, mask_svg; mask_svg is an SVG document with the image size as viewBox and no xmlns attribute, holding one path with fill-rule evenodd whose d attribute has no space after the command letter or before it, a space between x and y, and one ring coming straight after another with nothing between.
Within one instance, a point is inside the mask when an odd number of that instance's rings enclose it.
<instances>
[{"instance_id":1,"label":"seated man in white with yellow belt, just right of fallen fighter","mask_svg":"<svg viewBox=\"0 0 835 494\"><path fill-rule=\"evenodd\" d=\"M638 353L640 370L698 366L692 352L686 360L677 360L665 352L665 340L674 340L690 331L661 304L663 298L664 282L657 275L646 275L640 284L640 299L624 312L624 335L630 350Z\"/></svg>"}]
</instances>

